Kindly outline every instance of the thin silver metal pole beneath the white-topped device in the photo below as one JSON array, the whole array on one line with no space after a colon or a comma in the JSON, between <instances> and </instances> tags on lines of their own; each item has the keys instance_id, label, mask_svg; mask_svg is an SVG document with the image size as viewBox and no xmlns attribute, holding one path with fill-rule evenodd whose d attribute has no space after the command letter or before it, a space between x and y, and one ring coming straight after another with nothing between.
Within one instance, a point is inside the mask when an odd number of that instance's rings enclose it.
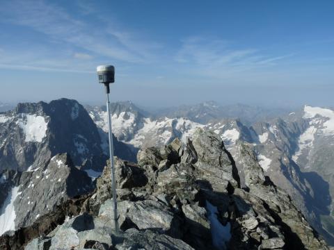
<instances>
[{"instance_id":1,"label":"thin silver metal pole beneath the white-topped device","mask_svg":"<svg viewBox=\"0 0 334 250\"><path fill-rule=\"evenodd\" d=\"M118 233L118 214L117 214L117 200L116 200L116 181L115 181L115 167L113 165L113 133L111 128L110 115L110 101L109 91L106 92L106 112L108 113L108 129L109 129L109 153L111 164L111 187L113 188L113 219L115 222L115 231Z\"/></svg>"}]
</instances>

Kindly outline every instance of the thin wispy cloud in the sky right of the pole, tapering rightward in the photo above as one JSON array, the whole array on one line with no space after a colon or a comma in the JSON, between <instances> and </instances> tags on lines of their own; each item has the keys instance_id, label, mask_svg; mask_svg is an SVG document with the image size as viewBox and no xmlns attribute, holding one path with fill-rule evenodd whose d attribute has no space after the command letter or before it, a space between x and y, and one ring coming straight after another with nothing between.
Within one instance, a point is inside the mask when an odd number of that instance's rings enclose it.
<instances>
[{"instance_id":1,"label":"thin wispy cloud in the sky right of the pole, tapering rightward","mask_svg":"<svg viewBox=\"0 0 334 250\"><path fill-rule=\"evenodd\" d=\"M272 57L260 49L237 48L232 42L224 40L192 37L182 40L175 61L197 74L224 77L271 67L291 56L293 54Z\"/></svg>"}]
</instances>

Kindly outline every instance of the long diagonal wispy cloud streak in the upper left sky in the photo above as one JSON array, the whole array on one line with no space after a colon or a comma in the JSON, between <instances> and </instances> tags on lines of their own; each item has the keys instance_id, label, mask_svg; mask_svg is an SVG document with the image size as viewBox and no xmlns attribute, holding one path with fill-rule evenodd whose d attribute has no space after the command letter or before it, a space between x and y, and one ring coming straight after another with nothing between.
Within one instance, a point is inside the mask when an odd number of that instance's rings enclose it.
<instances>
[{"instance_id":1,"label":"long diagonal wispy cloud streak in the upper left sky","mask_svg":"<svg viewBox=\"0 0 334 250\"><path fill-rule=\"evenodd\" d=\"M89 4L86 5L84 2L80 2L80 8L86 12L93 11L93 7ZM95 62L99 61L98 58L104 58L104 60L109 58L109 60L119 60L124 63L148 63L149 60L154 58L151 51L159 47L156 42L141 40L129 31L120 32L120 28L111 24L110 20L100 20L97 25L98 28L96 28L85 19L74 18L67 10L54 2L6 1L1 3L0 21L28 27L33 31L47 35L49 41L64 44L66 49L70 46L73 52L63 55L61 59L67 61L67 63L74 63L71 61L73 59L89 61L94 58L96 59ZM79 51L75 51L77 49ZM50 47L49 50L54 51L54 48ZM12 51L12 53L15 52L21 53L22 51ZM49 56L45 56L44 59L50 60ZM38 61L42 61L42 58L41 53L38 53L38 56L31 55L31 58L26 60L26 68L51 69L52 67L37 64ZM0 59L2 59L0 60L2 65L0 67L5 67L5 65L10 67L15 63L22 64L22 59L19 59L19 62L13 61L13 58L10 62L4 61L6 59L4 57ZM54 57L55 65L58 64L58 60L59 56L56 55ZM67 65L64 66L67 68ZM58 70L58 67L55 67L54 70ZM73 70L77 71L77 69Z\"/></svg>"}]
</instances>

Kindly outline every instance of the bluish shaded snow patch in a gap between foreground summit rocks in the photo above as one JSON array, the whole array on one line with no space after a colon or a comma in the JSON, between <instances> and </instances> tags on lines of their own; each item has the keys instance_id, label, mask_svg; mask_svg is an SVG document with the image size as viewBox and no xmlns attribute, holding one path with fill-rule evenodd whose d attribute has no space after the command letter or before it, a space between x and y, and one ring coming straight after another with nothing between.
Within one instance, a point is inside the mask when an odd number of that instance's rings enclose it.
<instances>
[{"instance_id":1,"label":"bluish shaded snow patch in a gap between foreground summit rocks","mask_svg":"<svg viewBox=\"0 0 334 250\"><path fill-rule=\"evenodd\" d=\"M212 203L209 203L209 201L206 201L206 208L207 208L207 218L210 221L210 230L212 235L212 244L214 244L214 247L217 249L227 249L228 242L231 239L231 225L230 222L226 224L226 226L223 226L221 222L219 222L217 214L218 209L216 206L212 205Z\"/></svg>"}]
</instances>

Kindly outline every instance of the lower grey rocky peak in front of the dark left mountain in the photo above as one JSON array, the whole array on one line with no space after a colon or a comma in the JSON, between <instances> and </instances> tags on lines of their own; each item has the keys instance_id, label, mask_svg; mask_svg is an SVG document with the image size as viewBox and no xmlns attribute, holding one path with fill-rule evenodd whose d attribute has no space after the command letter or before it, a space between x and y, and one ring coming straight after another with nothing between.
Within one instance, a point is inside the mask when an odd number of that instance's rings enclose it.
<instances>
[{"instance_id":1,"label":"lower grey rocky peak in front of the dark left mountain","mask_svg":"<svg viewBox=\"0 0 334 250\"><path fill-rule=\"evenodd\" d=\"M30 226L38 217L50 213L67 199L94 190L91 178L74 167L66 153L54 156L38 169L26 172L10 170L3 172L1 177L4 176L6 181L0 183L0 188L6 190L3 197L10 197L13 206L6 202L1 204L1 217L4 217L1 226L10 230ZM13 190L17 190L15 197ZM13 226L8 228L8 224Z\"/></svg>"}]
</instances>

